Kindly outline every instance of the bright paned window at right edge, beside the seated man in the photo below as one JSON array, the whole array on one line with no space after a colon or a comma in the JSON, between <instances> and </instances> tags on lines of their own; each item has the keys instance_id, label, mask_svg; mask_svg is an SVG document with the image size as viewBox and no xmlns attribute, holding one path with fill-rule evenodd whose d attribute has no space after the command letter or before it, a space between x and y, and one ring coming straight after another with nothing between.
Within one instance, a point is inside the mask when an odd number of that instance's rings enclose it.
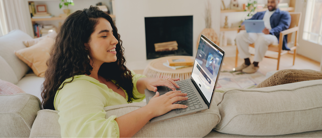
<instances>
[{"instance_id":1,"label":"bright paned window at right edge, beside the seated man","mask_svg":"<svg viewBox=\"0 0 322 138\"><path fill-rule=\"evenodd\" d=\"M303 40L322 45L322 0L308 0Z\"/></svg>"}]
</instances>

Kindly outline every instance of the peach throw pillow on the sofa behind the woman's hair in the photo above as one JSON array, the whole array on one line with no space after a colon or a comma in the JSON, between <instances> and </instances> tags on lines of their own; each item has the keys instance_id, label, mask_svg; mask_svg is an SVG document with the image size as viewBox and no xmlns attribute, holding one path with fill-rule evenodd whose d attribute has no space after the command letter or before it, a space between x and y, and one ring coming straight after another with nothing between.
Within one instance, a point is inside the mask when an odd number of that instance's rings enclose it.
<instances>
[{"instance_id":1,"label":"peach throw pillow on the sofa behind the woman's hair","mask_svg":"<svg viewBox=\"0 0 322 138\"><path fill-rule=\"evenodd\" d=\"M14 54L24 61L38 77L44 77L47 69L46 61L49 59L49 50L54 40L50 37L43 38L37 44L27 47Z\"/></svg>"}]
</instances>

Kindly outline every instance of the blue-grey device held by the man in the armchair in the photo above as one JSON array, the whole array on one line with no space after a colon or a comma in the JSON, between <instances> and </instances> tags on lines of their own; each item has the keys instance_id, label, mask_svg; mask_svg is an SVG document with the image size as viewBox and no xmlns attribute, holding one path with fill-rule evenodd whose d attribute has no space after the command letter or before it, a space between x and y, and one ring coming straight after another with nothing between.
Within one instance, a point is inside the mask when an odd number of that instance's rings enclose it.
<instances>
[{"instance_id":1,"label":"blue-grey device held by the man in the armchair","mask_svg":"<svg viewBox=\"0 0 322 138\"><path fill-rule=\"evenodd\" d=\"M264 20L245 20L246 32L256 32L261 33L265 28Z\"/></svg>"}]
</instances>

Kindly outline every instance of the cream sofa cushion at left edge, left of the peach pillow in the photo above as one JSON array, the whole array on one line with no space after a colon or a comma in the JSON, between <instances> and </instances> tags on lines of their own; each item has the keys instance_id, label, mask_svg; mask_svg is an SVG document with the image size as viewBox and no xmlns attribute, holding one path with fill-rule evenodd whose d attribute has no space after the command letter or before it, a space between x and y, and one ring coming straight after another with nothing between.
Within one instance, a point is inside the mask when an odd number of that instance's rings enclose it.
<instances>
[{"instance_id":1,"label":"cream sofa cushion at left edge, left of the peach pillow","mask_svg":"<svg viewBox=\"0 0 322 138\"><path fill-rule=\"evenodd\" d=\"M0 56L0 79L17 84L18 78L14 73L14 70L10 67L10 65L5 61L4 58Z\"/></svg>"}]
</instances>

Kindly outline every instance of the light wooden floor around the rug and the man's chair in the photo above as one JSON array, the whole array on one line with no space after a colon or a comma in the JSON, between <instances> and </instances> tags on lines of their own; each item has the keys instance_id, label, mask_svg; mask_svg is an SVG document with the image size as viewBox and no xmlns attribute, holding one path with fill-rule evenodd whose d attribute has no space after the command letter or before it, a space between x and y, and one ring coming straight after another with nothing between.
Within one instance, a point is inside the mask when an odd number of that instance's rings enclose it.
<instances>
[{"instance_id":1,"label":"light wooden floor around the rug and the man's chair","mask_svg":"<svg viewBox=\"0 0 322 138\"><path fill-rule=\"evenodd\" d=\"M251 56L251 62L253 62L254 56ZM244 62L244 59L239 58L238 59L238 66L240 66ZM224 59L224 65L222 67L222 70L232 70L235 68L235 57L226 57ZM264 58L258 66L259 71L266 75L269 71L274 71L277 68L277 60L275 59L269 59ZM293 54L284 54L280 58L279 63L279 70L282 69L312 69L320 71L320 63L311 59L308 59L306 57L303 57L301 55L297 55L295 58L295 64L293 66ZM143 70L134 70L137 74L143 74Z\"/></svg>"}]
</instances>

